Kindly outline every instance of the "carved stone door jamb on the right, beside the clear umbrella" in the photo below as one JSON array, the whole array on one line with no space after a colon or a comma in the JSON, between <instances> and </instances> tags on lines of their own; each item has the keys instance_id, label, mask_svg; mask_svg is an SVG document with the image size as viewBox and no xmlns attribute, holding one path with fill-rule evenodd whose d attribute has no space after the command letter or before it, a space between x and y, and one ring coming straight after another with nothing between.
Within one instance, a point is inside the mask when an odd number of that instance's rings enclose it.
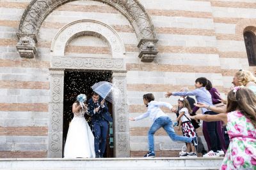
<instances>
[{"instance_id":1,"label":"carved stone door jamb on the right, beside the clear umbrella","mask_svg":"<svg viewBox=\"0 0 256 170\"><path fill-rule=\"evenodd\" d=\"M129 120L126 96L126 71L113 71L113 83L120 89L121 106L113 106L115 157L130 157Z\"/></svg>"}]
</instances>

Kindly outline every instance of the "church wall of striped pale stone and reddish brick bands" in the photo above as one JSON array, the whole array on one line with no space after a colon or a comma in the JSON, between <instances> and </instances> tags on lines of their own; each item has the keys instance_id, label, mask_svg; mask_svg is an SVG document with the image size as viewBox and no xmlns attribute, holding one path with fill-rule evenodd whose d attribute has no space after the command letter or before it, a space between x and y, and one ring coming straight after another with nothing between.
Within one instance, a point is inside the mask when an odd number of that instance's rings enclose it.
<instances>
[{"instance_id":1,"label":"church wall of striped pale stone and reddish brick bands","mask_svg":"<svg viewBox=\"0 0 256 170\"><path fill-rule=\"evenodd\" d=\"M176 105L178 97L165 99L165 92L184 86L194 89L199 76L209 78L224 95L237 69L255 71L248 66L243 42L244 27L256 26L256 7L251 0L140 0L159 39L159 54L152 63L140 62L138 39L129 21L97 1L73 1L54 10L40 27L38 55L22 59L15 48L16 32L29 2L0 2L0 157L47 157L51 41L61 27L75 20L104 22L124 41L129 117L145 111L141 98L147 92L153 92L157 101ZM104 38L86 34L68 42L65 55L111 57L111 50ZM173 113L164 111L174 120ZM132 157L146 152L150 124L148 118L129 122ZM173 143L163 131L156 134L160 156L175 156L182 145Z\"/></svg>"}]
</instances>

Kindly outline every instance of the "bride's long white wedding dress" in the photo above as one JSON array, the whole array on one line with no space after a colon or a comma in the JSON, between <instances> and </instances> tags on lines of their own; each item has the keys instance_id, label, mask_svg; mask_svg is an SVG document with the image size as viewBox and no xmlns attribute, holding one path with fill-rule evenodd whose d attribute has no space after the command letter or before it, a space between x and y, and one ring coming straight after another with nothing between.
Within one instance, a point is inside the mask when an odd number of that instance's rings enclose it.
<instances>
[{"instance_id":1,"label":"bride's long white wedding dress","mask_svg":"<svg viewBox=\"0 0 256 170\"><path fill-rule=\"evenodd\" d=\"M84 118L84 110L74 113L64 148L65 158L95 158L94 136Z\"/></svg>"}]
</instances>

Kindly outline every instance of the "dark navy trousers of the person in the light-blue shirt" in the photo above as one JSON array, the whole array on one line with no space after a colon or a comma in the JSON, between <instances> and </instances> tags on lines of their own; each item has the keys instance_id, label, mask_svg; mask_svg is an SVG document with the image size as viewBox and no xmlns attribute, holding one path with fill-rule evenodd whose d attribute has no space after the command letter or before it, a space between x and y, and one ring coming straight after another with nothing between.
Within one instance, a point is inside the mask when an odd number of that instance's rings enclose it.
<instances>
[{"instance_id":1,"label":"dark navy trousers of the person in the light-blue shirt","mask_svg":"<svg viewBox=\"0 0 256 170\"><path fill-rule=\"evenodd\" d=\"M217 115L217 113L213 111L207 111L204 113L205 115ZM217 122L204 122L206 124L207 132L209 134L210 146L209 150L213 152L217 152L217 150L221 150L220 137L218 135ZM222 134L221 134L222 135Z\"/></svg>"}]
</instances>

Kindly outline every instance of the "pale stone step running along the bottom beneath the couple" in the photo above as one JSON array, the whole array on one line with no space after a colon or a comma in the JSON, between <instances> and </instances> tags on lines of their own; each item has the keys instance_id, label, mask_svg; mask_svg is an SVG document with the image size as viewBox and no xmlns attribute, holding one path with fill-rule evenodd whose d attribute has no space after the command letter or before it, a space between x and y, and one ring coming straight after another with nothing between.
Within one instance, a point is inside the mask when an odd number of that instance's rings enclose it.
<instances>
[{"instance_id":1,"label":"pale stone step running along the bottom beneath the couple","mask_svg":"<svg viewBox=\"0 0 256 170\"><path fill-rule=\"evenodd\" d=\"M157 170L219 169L223 157L216 158L104 158L104 159L0 159L0 169L12 170Z\"/></svg>"}]
</instances>

